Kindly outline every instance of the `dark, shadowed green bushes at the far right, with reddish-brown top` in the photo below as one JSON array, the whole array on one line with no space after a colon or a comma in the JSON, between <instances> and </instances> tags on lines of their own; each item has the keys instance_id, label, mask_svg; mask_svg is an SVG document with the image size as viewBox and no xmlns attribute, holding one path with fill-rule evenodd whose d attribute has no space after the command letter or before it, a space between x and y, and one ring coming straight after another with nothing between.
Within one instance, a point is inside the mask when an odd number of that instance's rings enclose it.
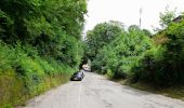
<instances>
[{"instance_id":1,"label":"dark, shadowed green bushes at the far right, with reddish-brown top","mask_svg":"<svg viewBox=\"0 0 184 108\"><path fill-rule=\"evenodd\" d=\"M136 71L135 79L146 80L161 86L183 84L184 73L184 21L171 23L163 33L155 38L167 41L159 42L146 52ZM165 38L163 38L165 37ZM135 69L134 68L134 69Z\"/></svg>"}]
</instances>

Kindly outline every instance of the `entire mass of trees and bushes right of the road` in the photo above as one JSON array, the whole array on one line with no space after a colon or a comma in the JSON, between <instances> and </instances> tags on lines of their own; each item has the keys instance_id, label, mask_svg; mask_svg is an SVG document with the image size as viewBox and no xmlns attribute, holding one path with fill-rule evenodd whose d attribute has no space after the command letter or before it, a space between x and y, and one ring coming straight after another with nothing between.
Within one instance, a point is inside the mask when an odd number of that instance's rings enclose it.
<instances>
[{"instance_id":1,"label":"entire mass of trees and bushes right of the road","mask_svg":"<svg viewBox=\"0 0 184 108\"><path fill-rule=\"evenodd\" d=\"M110 78L128 78L154 86L184 84L182 17L175 21L174 12L161 13L162 29L152 37L148 30L136 25L127 30L118 22L96 25L87 35L92 69Z\"/></svg>"}]
</instances>

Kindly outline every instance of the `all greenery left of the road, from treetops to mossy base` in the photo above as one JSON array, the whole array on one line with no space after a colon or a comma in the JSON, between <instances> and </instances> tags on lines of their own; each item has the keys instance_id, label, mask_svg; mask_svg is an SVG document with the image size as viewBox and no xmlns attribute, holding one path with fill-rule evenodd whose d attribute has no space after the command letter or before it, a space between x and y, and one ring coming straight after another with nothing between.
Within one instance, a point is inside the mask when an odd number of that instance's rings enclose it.
<instances>
[{"instance_id":1,"label":"all greenery left of the road, from treetops to mossy base","mask_svg":"<svg viewBox=\"0 0 184 108\"><path fill-rule=\"evenodd\" d=\"M68 80L83 56L86 0L0 1L0 108Z\"/></svg>"}]
</instances>

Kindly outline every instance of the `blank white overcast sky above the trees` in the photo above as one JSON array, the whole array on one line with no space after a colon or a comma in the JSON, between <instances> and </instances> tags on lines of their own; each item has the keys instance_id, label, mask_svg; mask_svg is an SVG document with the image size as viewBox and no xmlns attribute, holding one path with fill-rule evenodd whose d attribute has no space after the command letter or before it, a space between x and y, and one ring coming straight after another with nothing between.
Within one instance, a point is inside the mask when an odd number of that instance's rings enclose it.
<instances>
[{"instance_id":1,"label":"blank white overcast sky above the trees","mask_svg":"<svg viewBox=\"0 0 184 108\"><path fill-rule=\"evenodd\" d=\"M139 25L140 9L143 10L142 28L153 31L153 27L159 27L159 13L167 5L178 13L184 12L184 0L89 0L84 32L108 21L119 21L126 27Z\"/></svg>"}]
</instances>

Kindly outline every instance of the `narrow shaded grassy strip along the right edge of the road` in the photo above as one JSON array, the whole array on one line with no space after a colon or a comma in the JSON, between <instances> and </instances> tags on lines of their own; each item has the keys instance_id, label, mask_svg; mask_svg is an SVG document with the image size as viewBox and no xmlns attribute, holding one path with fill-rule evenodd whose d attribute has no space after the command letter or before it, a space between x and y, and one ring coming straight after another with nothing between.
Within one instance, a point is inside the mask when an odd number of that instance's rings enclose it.
<instances>
[{"instance_id":1,"label":"narrow shaded grassy strip along the right edge of the road","mask_svg":"<svg viewBox=\"0 0 184 108\"><path fill-rule=\"evenodd\" d=\"M160 87L160 86L155 86L155 85L144 83L144 82L132 83L130 82L130 80L117 80L117 79L114 80L113 79L113 81L118 82L123 85L134 87L134 89L142 90L142 91L147 91L147 92L152 92L155 94L161 94L168 97L184 100L184 86L182 85Z\"/></svg>"}]
</instances>

